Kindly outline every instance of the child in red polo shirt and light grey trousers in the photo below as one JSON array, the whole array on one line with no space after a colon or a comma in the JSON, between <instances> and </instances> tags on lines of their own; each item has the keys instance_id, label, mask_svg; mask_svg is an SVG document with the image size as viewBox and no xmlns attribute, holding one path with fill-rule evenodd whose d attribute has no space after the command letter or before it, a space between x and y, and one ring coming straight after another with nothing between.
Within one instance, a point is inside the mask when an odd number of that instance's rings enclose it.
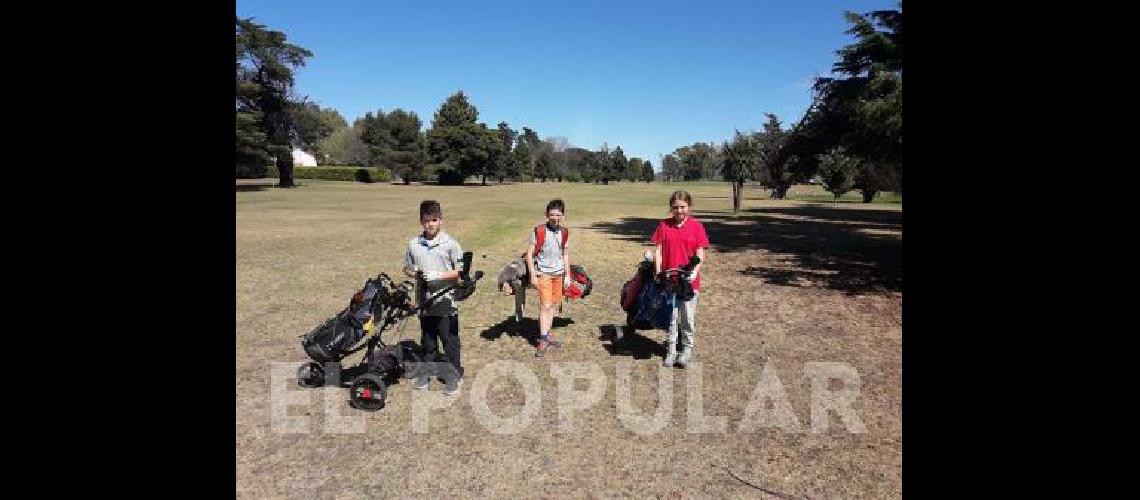
<instances>
[{"instance_id":1,"label":"child in red polo shirt and light grey trousers","mask_svg":"<svg viewBox=\"0 0 1140 500\"><path fill-rule=\"evenodd\" d=\"M669 210L673 212L673 216L659 222L652 237L657 245L653 251L653 268L658 274L662 270L685 265L693 255L701 260L687 278L693 285L693 298L685 302L678 300L674 305L673 320L669 322L668 351L661 362L662 366L670 368L674 364L685 368L693 355L697 300L700 297L701 288L700 272L705 265L705 248L709 247L705 224L691 215L692 203L692 196L687 191L674 191L669 196ZM678 334L681 339L679 356L677 353Z\"/></svg>"}]
</instances>

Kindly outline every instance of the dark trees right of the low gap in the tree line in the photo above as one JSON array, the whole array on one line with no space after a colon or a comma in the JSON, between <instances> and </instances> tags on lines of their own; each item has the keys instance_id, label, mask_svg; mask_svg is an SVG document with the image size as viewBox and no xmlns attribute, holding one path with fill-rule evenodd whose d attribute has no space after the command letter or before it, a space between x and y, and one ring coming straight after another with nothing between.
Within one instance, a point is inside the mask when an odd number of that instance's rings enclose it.
<instances>
[{"instance_id":1,"label":"dark trees right of the low gap in the tree line","mask_svg":"<svg viewBox=\"0 0 1140 500\"><path fill-rule=\"evenodd\" d=\"M855 42L840 48L833 76L817 77L803 118L790 128L766 113L756 132L719 145L695 142L662 156L666 181L732 182L740 211L746 181L784 198L793 183L819 179L836 198L855 189L870 203L903 191L903 13L845 13Z\"/></svg>"}]
</instances>

